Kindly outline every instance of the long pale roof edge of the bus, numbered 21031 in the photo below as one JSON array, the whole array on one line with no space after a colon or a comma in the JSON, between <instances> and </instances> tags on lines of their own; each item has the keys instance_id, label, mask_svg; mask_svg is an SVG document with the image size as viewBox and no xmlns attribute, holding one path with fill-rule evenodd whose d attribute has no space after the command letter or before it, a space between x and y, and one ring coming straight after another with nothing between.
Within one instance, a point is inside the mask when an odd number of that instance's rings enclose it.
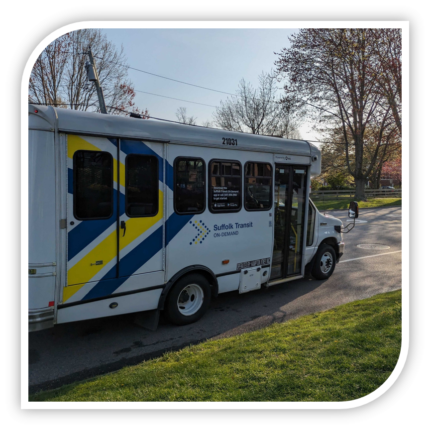
<instances>
[{"instance_id":1,"label":"long pale roof edge of the bus, numbered 21031","mask_svg":"<svg viewBox=\"0 0 430 430\"><path fill-rule=\"evenodd\" d=\"M35 110L38 111L36 114ZM222 138L232 138L237 139L237 146L234 146L237 149L307 156L316 154L319 155L318 158L321 157L320 149L305 140L283 139L261 134L240 133L196 125L106 115L36 104L28 105L28 113L29 127L32 128L40 126L41 121L36 118L38 116L47 121L50 124L50 128L55 129L55 117L57 117L60 132L126 137L139 140L160 140L172 143L205 144L217 147L222 144Z\"/></svg>"}]
</instances>

